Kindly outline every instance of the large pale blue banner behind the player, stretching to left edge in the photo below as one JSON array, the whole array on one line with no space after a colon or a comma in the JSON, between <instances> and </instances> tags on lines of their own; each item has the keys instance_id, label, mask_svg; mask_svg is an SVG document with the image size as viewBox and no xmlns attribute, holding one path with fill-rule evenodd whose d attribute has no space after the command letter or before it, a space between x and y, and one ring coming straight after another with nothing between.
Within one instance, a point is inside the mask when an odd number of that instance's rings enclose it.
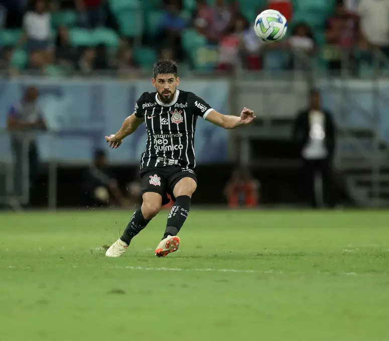
<instances>
[{"instance_id":1,"label":"large pale blue banner behind the player, stretching to left edge","mask_svg":"<svg viewBox=\"0 0 389 341\"><path fill-rule=\"evenodd\" d=\"M40 158L61 163L90 162L93 151L105 148L110 162L137 164L144 151L146 130L141 126L123 145L110 150L104 137L115 134L131 115L135 101L145 91L153 91L151 80L68 80L29 77L0 81L0 127L6 126L7 112L20 101L27 86L40 90L39 105L50 130L56 137L42 134L37 138ZM182 81L180 89L192 91L215 110L228 114L227 81ZM1 140L5 140L3 136ZM226 162L227 131L198 120L195 138L198 164ZM9 144L0 147L0 156L9 157Z\"/></svg>"}]
</instances>

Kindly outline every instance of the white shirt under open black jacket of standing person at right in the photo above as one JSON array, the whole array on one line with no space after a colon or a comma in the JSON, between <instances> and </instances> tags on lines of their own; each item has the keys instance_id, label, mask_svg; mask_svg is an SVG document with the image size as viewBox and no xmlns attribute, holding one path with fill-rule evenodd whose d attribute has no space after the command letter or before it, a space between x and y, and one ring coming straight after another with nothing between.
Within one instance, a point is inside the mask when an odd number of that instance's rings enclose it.
<instances>
[{"instance_id":1,"label":"white shirt under open black jacket of standing person at right","mask_svg":"<svg viewBox=\"0 0 389 341\"><path fill-rule=\"evenodd\" d=\"M325 146L325 120L324 113L318 110L312 110L309 113L309 140L304 147L302 156L307 160L324 159L328 155Z\"/></svg>"}]
</instances>

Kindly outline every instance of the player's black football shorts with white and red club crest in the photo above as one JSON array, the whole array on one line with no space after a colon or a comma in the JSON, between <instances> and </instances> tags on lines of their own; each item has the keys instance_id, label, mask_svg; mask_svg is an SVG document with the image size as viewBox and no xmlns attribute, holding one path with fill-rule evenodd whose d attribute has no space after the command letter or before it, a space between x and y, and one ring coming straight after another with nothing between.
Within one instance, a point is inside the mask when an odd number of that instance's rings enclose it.
<instances>
[{"instance_id":1,"label":"player's black football shorts with white and red club crest","mask_svg":"<svg viewBox=\"0 0 389 341\"><path fill-rule=\"evenodd\" d=\"M173 201L174 186L182 178L192 178L197 183L195 171L190 168L179 165L171 165L165 167L145 167L140 171L142 183L142 195L146 192L155 192L162 196L162 206L169 203L167 194L171 196Z\"/></svg>"}]
</instances>

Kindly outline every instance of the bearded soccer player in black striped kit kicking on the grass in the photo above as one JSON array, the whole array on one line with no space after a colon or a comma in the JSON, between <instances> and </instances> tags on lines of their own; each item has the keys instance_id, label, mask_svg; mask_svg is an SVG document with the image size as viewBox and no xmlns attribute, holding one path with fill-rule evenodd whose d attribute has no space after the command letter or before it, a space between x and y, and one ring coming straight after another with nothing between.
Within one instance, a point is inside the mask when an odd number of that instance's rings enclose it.
<instances>
[{"instance_id":1,"label":"bearded soccer player in black striped kit kicking on the grass","mask_svg":"<svg viewBox=\"0 0 389 341\"><path fill-rule=\"evenodd\" d=\"M143 93L122 128L115 135L106 136L109 146L118 148L126 136L146 124L146 149L140 164L143 203L131 217L123 236L107 250L107 257L120 257L126 251L131 240L169 202L167 193L174 206L155 255L165 257L176 251L180 243L177 234L197 188L193 147L196 120L201 117L222 128L232 129L249 124L255 118L254 112L247 108L242 110L240 117L222 115L194 93L178 90L177 65L173 61L156 62L153 76L151 81L157 91Z\"/></svg>"}]
</instances>

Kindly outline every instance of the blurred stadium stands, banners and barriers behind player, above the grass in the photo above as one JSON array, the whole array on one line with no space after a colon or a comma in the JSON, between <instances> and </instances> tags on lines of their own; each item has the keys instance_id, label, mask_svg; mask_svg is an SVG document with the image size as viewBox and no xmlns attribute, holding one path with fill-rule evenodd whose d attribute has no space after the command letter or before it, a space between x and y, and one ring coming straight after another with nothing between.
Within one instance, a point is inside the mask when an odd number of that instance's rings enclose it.
<instances>
[{"instance_id":1,"label":"blurred stadium stands, banners and barriers behind player, above the grass","mask_svg":"<svg viewBox=\"0 0 389 341\"><path fill-rule=\"evenodd\" d=\"M138 191L145 131L140 129L115 151L106 148L104 136L115 133L138 96L151 89L150 68L158 58L177 60L181 87L219 111L237 114L247 106L258 116L255 125L232 132L199 124L196 151L201 181L194 203L309 203L309 185L292 132L299 110L309 105L310 89L316 88L336 125L332 179L336 205L386 206L389 24L382 21L369 31L369 11L381 10L384 15L387 8L368 3L4 1L0 6L3 206L85 206L90 203L85 193L93 186L85 174L100 150L107 153L109 177L118 184L116 194L109 189L110 205L124 206L126 198L136 201L130 197ZM289 20L288 37L278 44L263 44L253 33L255 16L266 8L280 10ZM34 133L33 157L39 163L28 161L31 148L25 147L16 164L7 118L30 86L39 90L38 105L47 130ZM231 178L248 181L255 194L243 198L253 195L251 201L227 194Z\"/></svg>"}]
</instances>

